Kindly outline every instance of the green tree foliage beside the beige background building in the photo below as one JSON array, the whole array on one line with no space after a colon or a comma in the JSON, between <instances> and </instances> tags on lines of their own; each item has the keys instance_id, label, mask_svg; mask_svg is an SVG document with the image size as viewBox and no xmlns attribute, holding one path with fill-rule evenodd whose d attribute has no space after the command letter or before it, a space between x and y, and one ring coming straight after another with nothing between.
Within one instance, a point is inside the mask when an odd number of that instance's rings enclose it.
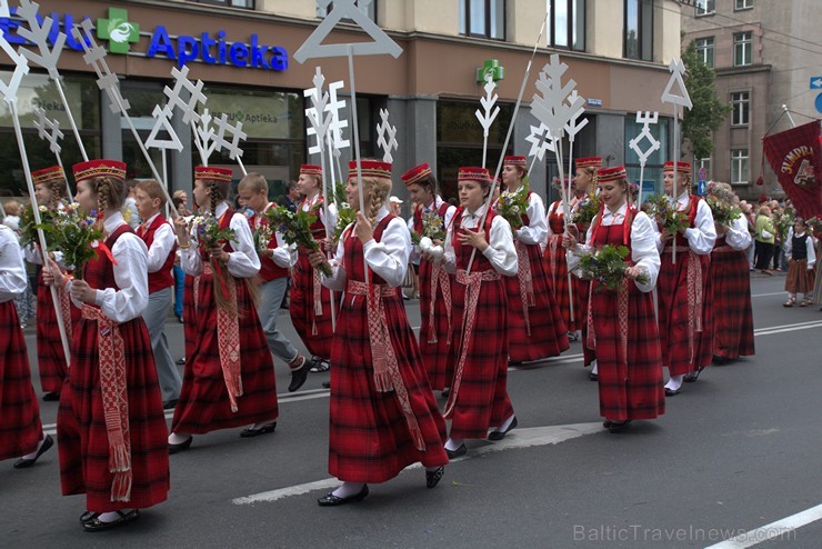
<instances>
[{"instance_id":1,"label":"green tree foliage beside the beige background building","mask_svg":"<svg viewBox=\"0 0 822 549\"><path fill-rule=\"evenodd\" d=\"M682 136L691 142L694 158L708 158L713 151L712 133L719 130L732 107L716 98L714 81L716 73L696 53L691 41L682 53L685 64L685 86L693 108L685 109L682 119Z\"/></svg>"}]
</instances>

